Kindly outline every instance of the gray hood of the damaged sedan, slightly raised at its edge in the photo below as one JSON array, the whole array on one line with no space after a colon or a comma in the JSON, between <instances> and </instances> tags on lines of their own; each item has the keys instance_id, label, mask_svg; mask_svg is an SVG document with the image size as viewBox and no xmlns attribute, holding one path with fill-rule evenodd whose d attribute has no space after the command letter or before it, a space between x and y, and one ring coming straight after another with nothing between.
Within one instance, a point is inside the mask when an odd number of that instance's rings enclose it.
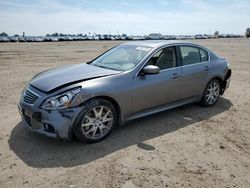
<instances>
[{"instance_id":1,"label":"gray hood of the damaged sedan, slightly raised at its edge","mask_svg":"<svg viewBox=\"0 0 250 188\"><path fill-rule=\"evenodd\" d=\"M30 81L30 85L44 92L52 92L69 84L119 73L121 71L76 64L41 72Z\"/></svg>"}]
</instances>

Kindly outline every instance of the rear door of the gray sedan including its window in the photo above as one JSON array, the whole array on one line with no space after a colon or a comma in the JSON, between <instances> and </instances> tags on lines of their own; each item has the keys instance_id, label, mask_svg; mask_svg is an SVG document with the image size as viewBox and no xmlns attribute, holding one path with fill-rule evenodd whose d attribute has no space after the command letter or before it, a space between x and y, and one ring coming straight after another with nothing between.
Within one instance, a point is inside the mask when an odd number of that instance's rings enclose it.
<instances>
[{"instance_id":1,"label":"rear door of the gray sedan including its window","mask_svg":"<svg viewBox=\"0 0 250 188\"><path fill-rule=\"evenodd\" d=\"M206 87L211 68L208 52L196 46L179 46L182 61L181 98L199 96Z\"/></svg>"}]
</instances>

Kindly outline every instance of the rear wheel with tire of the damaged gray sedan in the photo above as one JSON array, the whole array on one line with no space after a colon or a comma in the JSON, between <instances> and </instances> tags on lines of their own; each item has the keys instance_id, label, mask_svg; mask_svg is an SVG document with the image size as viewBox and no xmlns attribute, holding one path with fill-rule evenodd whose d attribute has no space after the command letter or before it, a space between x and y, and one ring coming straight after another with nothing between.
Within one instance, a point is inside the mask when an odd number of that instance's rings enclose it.
<instances>
[{"instance_id":1,"label":"rear wheel with tire of the damaged gray sedan","mask_svg":"<svg viewBox=\"0 0 250 188\"><path fill-rule=\"evenodd\" d=\"M203 92L201 104L207 107L216 104L220 97L221 83L217 79L210 80Z\"/></svg>"}]
</instances>

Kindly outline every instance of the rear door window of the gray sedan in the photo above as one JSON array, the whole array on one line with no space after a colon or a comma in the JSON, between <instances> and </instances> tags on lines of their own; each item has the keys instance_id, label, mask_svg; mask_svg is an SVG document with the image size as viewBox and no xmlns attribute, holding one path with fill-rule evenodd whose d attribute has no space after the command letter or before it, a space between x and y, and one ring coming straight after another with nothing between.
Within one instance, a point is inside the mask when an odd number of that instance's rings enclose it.
<instances>
[{"instance_id":1,"label":"rear door window of the gray sedan","mask_svg":"<svg viewBox=\"0 0 250 188\"><path fill-rule=\"evenodd\" d=\"M208 53L203 49L192 46L181 46L180 50L183 65L208 61Z\"/></svg>"}]
</instances>

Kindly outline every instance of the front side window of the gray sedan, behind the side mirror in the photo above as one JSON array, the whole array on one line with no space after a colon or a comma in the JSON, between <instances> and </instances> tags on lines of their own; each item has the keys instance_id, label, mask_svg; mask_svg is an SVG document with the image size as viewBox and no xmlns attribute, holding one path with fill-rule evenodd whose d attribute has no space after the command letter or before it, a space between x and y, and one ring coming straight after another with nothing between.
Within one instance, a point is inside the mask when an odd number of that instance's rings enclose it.
<instances>
[{"instance_id":1,"label":"front side window of the gray sedan, behind the side mirror","mask_svg":"<svg viewBox=\"0 0 250 188\"><path fill-rule=\"evenodd\" d=\"M176 55L174 47L167 47L156 52L148 61L147 65L155 65L160 70L176 67Z\"/></svg>"}]
</instances>

